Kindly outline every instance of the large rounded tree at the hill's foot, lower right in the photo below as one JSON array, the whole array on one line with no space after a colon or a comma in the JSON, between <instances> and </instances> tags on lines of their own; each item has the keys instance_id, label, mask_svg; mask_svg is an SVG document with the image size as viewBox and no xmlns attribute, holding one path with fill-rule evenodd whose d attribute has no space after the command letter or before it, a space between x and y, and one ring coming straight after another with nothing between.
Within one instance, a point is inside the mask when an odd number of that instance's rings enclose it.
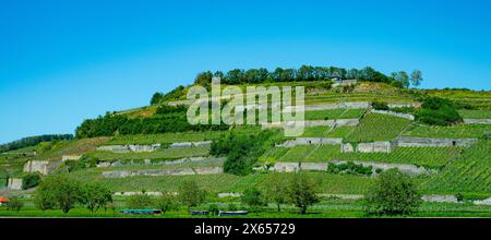
<instances>
[{"instance_id":1,"label":"large rounded tree at the hill's foot, lower right","mask_svg":"<svg viewBox=\"0 0 491 240\"><path fill-rule=\"evenodd\" d=\"M366 213L378 215L410 214L421 203L416 182L396 168L382 172L364 199Z\"/></svg>"}]
</instances>

